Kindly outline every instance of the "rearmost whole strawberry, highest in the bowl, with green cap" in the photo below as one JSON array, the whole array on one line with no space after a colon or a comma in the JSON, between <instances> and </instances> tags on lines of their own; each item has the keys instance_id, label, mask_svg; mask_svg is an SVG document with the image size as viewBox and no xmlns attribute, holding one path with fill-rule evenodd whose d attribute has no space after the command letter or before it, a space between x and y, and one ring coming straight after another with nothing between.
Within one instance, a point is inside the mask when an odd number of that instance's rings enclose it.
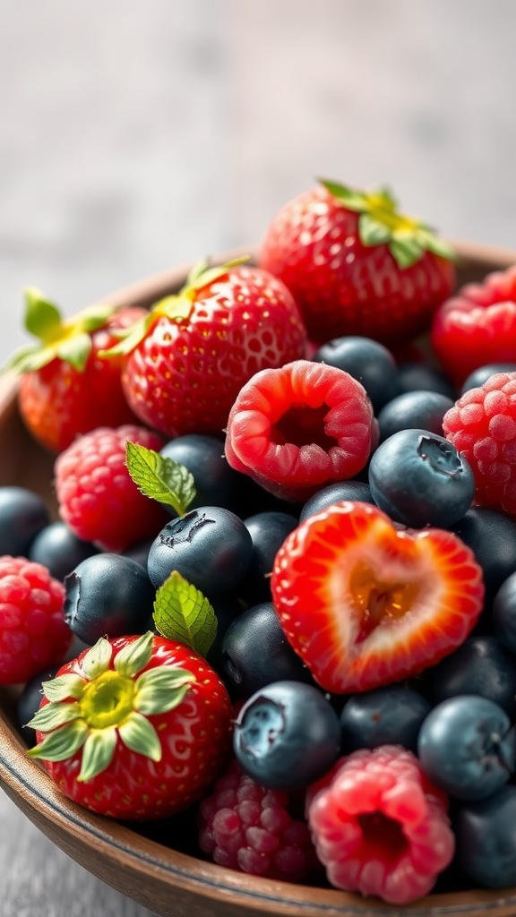
<instances>
[{"instance_id":1,"label":"rearmost whole strawberry, highest in the bowl, with green cap","mask_svg":"<svg viewBox=\"0 0 516 917\"><path fill-rule=\"evenodd\" d=\"M336 182L298 195L267 227L259 264L286 283L308 335L399 344L428 330L452 293L452 249L398 213L387 190Z\"/></svg>"}]
</instances>

